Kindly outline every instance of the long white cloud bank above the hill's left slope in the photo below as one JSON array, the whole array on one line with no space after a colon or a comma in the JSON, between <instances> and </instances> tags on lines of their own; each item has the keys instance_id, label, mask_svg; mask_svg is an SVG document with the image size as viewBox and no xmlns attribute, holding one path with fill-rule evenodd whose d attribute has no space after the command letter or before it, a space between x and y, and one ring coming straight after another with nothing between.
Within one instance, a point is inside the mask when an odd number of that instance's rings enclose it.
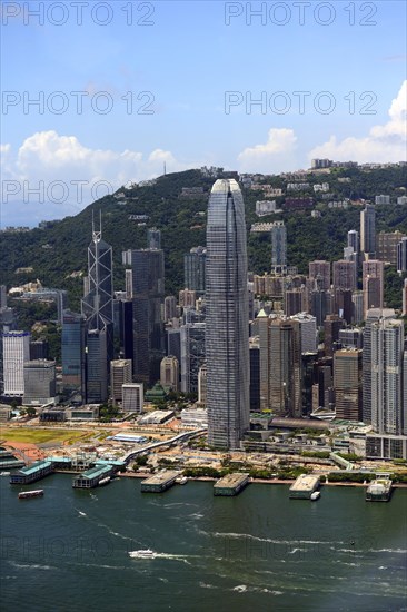
<instances>
[{"instance_id":1,"label":"long white cloud bank above the hill's left slope","mask_svg":"<svg viewBox=\"0 0 407 612\"><path fill-rule=\"evenodd\" d=\"M163 162L171 172L197 167L162 149L148 155L91 149L75 136L54 130L33 134L17 152L1 145L1 154L2 225L36 225L41 219L76 215L121 185L161 175Z\"/></svg>"}]
</instances>

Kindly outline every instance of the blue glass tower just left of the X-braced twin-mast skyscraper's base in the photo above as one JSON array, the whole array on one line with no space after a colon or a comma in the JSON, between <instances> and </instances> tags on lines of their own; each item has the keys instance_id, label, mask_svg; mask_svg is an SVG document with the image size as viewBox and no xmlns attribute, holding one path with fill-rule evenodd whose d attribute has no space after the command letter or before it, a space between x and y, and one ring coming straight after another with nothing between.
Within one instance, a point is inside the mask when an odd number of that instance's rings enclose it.
<instances>
[{"instance_id":1,"label":"blue glass tower just left of the X-braced twin-mast skyscraper's base","mask_svg":"<svg viewBox=\"0 0 407 612\"><path fill-rule=\"evenodd\" d=\"M62 317L62 384L71 389L85 384L85 317L71 310Z\"/></svg>"}]
</instances>

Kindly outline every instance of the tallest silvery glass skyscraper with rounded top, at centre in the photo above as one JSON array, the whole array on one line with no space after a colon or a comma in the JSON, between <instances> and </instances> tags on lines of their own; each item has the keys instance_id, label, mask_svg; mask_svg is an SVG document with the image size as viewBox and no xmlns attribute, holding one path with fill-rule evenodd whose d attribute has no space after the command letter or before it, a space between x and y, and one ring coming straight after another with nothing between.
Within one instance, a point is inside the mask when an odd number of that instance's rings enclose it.
<instances>
[{"instance_id":1,"label":"tallest silvery glass skyscraper with rounded top, at centre","mask_svg":"<svg viewBox=\"0 0 407 612\"><path fill-rule=\"evenodd\" d=\"M212 187L207 223L208 442L237 448L249 427L249 320L245 204L234 179Z\"/></svg>"}]
</instances>

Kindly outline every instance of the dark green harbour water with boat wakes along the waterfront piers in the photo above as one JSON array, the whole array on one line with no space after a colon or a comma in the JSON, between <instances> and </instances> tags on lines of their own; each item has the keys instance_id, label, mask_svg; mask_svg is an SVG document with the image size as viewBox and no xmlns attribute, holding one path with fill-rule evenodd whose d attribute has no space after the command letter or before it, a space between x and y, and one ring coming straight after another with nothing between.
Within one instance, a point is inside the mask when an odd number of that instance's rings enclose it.
<instances>
[{"instance_id":1,"label":"dark green harbour water with boat wakes along the waterfront piers","mask_svg":"<svg viewBox=\"0 0 407 612\"><path fill-rule=\"evenodd\" d=\"M3 612L407 610L407 490L375 504L363 487L310 502L286 485L215 497L206 482L142 494L136 478L71 480L21 502L0 478ZM130 557L143 549L157 554Z\"/></svg>"}]
</instances>

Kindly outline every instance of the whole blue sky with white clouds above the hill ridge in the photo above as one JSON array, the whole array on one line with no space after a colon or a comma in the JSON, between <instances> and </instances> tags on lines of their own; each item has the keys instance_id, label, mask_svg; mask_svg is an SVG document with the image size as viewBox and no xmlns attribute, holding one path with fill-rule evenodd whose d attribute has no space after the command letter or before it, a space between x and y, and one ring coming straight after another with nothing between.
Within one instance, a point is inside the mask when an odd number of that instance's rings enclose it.
<instances>
[{"instance_id":1,"label":"whole blue sky with white clouds above the hill ridge","mask_svg":"<svg viewBox=\"0 0 407 612\"><path fill-rule=\"evenodd\" d=\"M2 2L1 223L75 214L98 181L150 178L163 161L279 172L311 157L404 159L405 23L391 0Z\"/></svg>"}]
</instances>

